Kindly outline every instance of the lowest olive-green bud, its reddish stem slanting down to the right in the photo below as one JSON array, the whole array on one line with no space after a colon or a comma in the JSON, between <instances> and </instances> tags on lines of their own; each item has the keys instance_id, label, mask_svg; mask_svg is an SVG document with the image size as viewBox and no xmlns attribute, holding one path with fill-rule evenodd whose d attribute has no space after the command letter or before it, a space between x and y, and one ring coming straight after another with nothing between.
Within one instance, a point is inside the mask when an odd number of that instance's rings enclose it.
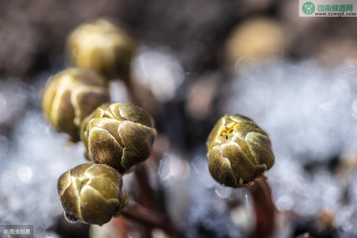
<instances>
[{"instance_id":1,"label":"lowest olive-green bud, its reddish stem slanting down to the right","mask_svg":"<svg viewBox=\"0 0 357 238\"><path fill-rule=\"evenodd\" d=\"M112 167L85 163L62 174L57 191L67 219L102 225L126 207L122 185L121 175Z\"/></svg>"}]
</instances>

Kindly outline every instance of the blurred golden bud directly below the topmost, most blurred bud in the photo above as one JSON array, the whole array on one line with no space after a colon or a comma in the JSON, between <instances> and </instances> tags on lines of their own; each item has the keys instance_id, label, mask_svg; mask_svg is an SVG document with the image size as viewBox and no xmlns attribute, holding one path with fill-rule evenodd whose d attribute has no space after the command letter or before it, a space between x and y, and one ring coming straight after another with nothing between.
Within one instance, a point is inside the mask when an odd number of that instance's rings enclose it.
<instances>
[{"instance_id":1,"label":"blurred golden bud directly below the topmost, most blurred bud","mask_svg":"<svg viewBox=\"0 0 357 238\"><path fill-rule=\"evenodd\" d=\"M101 104L109 102L107 82L89 69L67 68L49 78L42 109L57 131L79 139L82 120Z\"/></svg>"}]
</instances>

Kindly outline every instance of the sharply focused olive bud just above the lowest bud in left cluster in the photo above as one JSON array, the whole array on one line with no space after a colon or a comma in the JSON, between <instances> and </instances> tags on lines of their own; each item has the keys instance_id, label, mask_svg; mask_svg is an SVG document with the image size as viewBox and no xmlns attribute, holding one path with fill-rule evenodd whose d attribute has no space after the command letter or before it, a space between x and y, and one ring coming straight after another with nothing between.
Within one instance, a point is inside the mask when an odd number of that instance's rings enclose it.
<instances>
[{"instance_id":1,"label":"sharply focused olive bud just above the lowest bud in left cluster","mask_svg":"<svg viewBox=\"0 0 357 238\"><path fill-rule=\"evenodd\" d=\"M82 123L87 159L119 172L146 160L156 137L154 120L130 103L104 104Z\"/></svg>"}]
</instances>

